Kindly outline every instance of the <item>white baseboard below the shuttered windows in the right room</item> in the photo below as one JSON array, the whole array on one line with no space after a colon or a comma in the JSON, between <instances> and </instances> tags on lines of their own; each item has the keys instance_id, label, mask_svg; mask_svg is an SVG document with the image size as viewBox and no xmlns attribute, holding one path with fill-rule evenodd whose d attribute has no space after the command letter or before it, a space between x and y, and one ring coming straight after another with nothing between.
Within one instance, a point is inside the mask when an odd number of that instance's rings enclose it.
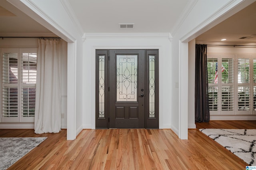
<instances>
[{"instance_id":1,"label":"white baseboard below the shuttered windows in the right room","mask_svg":"<svg viewBox=\"0 0 256 170\"><path fill-rule=\"evenodd\" d=\"M210 121L255 121L256 115L210 115Z\"/></svg>"}]
</instances>

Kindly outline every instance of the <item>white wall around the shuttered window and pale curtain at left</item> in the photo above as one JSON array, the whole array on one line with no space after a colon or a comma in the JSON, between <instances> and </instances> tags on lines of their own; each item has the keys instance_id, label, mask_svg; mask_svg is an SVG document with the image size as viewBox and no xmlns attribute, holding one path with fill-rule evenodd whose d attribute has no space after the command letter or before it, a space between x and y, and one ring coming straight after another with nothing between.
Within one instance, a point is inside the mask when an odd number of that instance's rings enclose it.
<instances>
[{"instance_id":1,"label":"white wall around the shuttered window and pale curtain at left","mask_svg":"<svg viewBox=\"0 0 256 170\"><path fill-rule=\"evenodd\" d=\"M62 82L61 82L61 128L67 127L67 43L62 40L64 55L62 56ZM38 38L4 38L0 39L0 53L2 48L35 47L38 48ZM34 128L34 123L4 123L0 128Z\"/></svg>"}]
</instances>

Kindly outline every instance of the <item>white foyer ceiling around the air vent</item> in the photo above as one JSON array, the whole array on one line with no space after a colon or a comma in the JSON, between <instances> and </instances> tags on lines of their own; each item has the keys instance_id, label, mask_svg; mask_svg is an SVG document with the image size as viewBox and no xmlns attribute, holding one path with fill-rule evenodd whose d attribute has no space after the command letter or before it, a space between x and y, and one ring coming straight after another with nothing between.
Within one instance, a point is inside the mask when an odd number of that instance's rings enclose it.
<instances>
[{"instance_id":1,"label":"white foyer ceiling around the air vent","mask_svg":"<svg viewBox=\"0 0 256 170\"><path fill-rule=\"evenodd\" d=\"M171 32L190 0L69 0L86 33ZM134 24L120 29L119 24Z\"/></svg>"}]
</instances>

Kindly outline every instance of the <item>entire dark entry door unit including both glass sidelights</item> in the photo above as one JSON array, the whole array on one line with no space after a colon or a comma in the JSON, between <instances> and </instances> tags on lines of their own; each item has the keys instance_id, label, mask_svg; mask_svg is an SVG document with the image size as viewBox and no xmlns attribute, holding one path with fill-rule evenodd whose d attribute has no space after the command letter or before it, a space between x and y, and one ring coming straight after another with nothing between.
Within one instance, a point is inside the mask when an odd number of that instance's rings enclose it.
<instances>
[{"instance_id":1,"label":"entire dark entry door unit including both glass sidelights","mask_svg":"<svg viewBox=\"0 0 256 170\"><path fill-rule=\"evenodd\" d=\"M158 128L158 50L96 50L96 128Z\"/></svg>"}]
</instances>

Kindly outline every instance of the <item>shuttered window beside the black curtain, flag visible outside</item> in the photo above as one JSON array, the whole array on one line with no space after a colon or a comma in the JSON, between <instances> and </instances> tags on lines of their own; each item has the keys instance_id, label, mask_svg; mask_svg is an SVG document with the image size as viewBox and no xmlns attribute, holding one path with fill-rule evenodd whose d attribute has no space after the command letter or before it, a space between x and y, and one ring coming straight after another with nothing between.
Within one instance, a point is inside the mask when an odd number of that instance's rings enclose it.
<instances>
[{"instance_id":1,"label":"shuttered window beside the black curtain, flag visible outside","mask_svg":"<svg viewBox=\"0 0 256 170\"><path fill-rule=\"evenodd\" d=\"M208 55L208 101L212 115L235 109L234 55Z\"/></svg>"}]
</instances>

